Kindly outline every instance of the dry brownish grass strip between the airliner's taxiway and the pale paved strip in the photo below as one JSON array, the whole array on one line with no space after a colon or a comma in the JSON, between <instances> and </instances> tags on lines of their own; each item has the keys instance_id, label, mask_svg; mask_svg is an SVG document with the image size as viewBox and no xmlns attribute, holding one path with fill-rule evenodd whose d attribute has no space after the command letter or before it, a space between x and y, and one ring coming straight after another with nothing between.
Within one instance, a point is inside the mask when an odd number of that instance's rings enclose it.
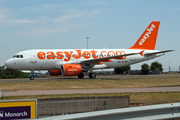
<instances>
[{"instance_id":1,"label":"dry brownish grass strip between the airliner's taxiway and the pale paved strip","mask_svg":"<svg viewBox=\"0 0 180 120\"><path fill-rule=\"evenodd\" d=\"M71 79L49 81L1 82L2 90L70 90L180 86L180 77Z\"/></svg>"}]
</instances>

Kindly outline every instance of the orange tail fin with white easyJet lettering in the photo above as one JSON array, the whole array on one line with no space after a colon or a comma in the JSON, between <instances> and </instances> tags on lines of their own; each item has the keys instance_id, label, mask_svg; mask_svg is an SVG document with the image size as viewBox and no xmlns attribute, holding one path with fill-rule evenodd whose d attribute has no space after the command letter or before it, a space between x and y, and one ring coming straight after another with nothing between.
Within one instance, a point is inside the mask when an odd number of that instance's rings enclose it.
<instances>
[{"instance_id":1,"label":"orange tail fin with white easyJet lettering","mask_svg":"<svg viewBox=\"0 0 180 120\"><path fill-rule=\"evenodd\" d=\"M129 49L154 50L160 21L152 21L134 46Z\"/></svg>"}]
</instances>

